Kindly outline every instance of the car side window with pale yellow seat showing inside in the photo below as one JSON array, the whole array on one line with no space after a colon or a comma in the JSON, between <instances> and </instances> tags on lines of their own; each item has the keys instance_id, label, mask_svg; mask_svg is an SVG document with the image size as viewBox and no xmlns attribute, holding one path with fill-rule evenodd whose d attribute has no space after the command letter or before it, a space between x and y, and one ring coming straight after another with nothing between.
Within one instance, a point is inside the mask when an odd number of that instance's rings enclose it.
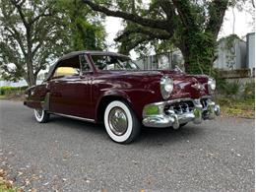
<instances>
[{"instance_id":1,"label":"car side window with pale yellow seat showing inside","mask_svg":"<svg viewBox=\"0 0 256 192\"><path fill-rule=\"evenodd\" d=\"M61 78L64 76L77 76L80 74L79 56L60 61L57 64L52 78Z\"/></svg>"}]
</instances>

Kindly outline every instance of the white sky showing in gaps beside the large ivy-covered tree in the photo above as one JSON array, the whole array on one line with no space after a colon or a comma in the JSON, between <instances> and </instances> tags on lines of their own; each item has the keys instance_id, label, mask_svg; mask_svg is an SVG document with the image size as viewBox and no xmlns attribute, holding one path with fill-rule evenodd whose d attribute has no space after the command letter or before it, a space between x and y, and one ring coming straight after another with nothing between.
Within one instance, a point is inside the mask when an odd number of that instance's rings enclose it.
<instances>
[{"instance_id":1,"label":"white sky showing in gaps beside the large ivy-covered tree","mask_svg":"<svg viewBox=\"0 0 256 192\"><path fill-rule=\"evenodd\" d=\"M234 33L236 33L240 38L246 39L245 36L248 32L255 32L251 23L252 16L246 11L239 12L237 9L234 9L235 14L235 25L234 25ZM105 22L105 31L107 33L106 43L109 45L109 51L117 51L114 47L114 38L116 37L116 33L123 29L121 25L121 19L106 17ZM232 33L233 26L233 14L232 10L229 8L225 12L224 16L224 24L222 27L222 31L219 33L219 37L226 36ZM113 45L113 46L110 46ZM132 59L136 59L138 56L134 51L130 52Z\"/></svg>"}]
</instances>

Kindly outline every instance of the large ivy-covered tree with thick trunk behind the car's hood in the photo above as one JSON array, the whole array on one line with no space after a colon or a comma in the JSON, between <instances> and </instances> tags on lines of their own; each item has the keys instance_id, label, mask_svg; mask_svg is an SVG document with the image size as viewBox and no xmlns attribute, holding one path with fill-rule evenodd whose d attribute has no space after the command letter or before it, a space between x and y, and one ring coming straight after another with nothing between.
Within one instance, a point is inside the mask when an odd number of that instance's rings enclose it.
<instances>
[{"instance_id":1,"label":"large ivy-covered tree with thick trunk behind the car's hood","mask_svg":"<svg viewBox=\"0 0 256 192\"><path fill-rule=\"evenodd\" d=\"M189 73L212 73L224 13L234 0L83 0L93 10L129 21L116 38L120 51L149 41L178 47ZM132 25L131 25L132 23ZM160 40L160 41L159 41Z\"/></svg>"}]
</instances>

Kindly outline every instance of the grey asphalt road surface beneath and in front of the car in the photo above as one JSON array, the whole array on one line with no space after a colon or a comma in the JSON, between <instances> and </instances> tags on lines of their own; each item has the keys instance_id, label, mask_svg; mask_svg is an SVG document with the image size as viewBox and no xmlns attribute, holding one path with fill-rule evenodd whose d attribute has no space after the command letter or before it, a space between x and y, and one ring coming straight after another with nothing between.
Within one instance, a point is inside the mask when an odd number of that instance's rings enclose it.
<instances>
[{"instance_id":1,"label":"grey asphalt road surface beneath and in front of the car","mask_svg":"<svg viewBox=\"0 0 256 192\"><path fill-rule=\"evenodd\" d=\"M254 191L254 120L219 117L178 131L143 130L119 145L102 125L0 101L0 167L25 190Z\"/></svg>"}]
</instances>

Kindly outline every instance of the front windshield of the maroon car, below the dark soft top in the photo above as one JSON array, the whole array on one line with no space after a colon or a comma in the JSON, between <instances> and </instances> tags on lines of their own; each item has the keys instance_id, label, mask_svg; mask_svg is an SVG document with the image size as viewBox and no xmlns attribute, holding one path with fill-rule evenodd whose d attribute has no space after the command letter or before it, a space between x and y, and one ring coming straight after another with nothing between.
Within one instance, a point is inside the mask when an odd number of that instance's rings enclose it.
<instances>
[{"instance_id":1,"label":"front windshield of the maroon car, below the dark soft top","mask_svg":"<svg viewBox=\"0 0 256 192\"><path fill-rule=\"evenodd\" d=\"M128 57L110 55L91 55L98 70L139 70Z\"/></svg>"}]
</instances>

